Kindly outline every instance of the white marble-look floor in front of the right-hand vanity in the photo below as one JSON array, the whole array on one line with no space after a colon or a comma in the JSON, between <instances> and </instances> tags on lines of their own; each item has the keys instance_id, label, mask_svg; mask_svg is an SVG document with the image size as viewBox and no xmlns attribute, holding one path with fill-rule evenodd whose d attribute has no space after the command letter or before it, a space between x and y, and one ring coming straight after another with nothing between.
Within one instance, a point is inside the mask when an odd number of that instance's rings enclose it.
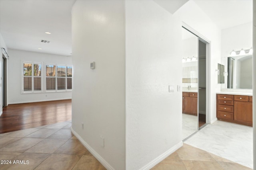
<instances>
[{"instance_id":1,"label":"white marble-look floor in front of the right-hand vanity","mask_svg":"<svg viewBox=\"0 0 256 170\"><path fill-rule=\"evenodd\" d=\"M253 168L252 127L216 121L184 143Z\"/></svg>"}]
</instances>

